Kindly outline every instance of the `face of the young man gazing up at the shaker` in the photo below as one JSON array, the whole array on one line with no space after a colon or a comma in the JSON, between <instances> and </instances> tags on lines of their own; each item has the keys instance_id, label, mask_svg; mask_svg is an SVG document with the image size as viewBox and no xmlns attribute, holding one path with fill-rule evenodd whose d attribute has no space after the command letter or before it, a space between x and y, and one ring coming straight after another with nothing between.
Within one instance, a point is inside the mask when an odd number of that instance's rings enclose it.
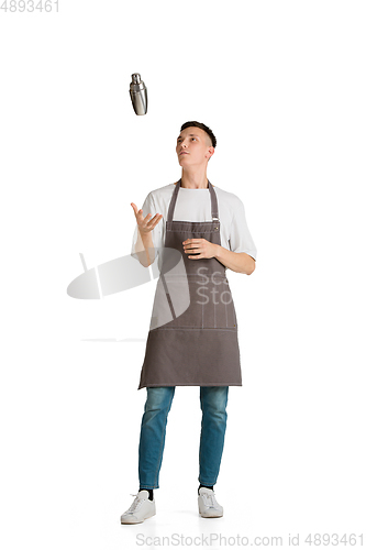
<instances>
[{"instance_id":1,"label":"face of the young man gazing up at the shaker","mask_svg":"<svg viewBox=\"0 0 366 550\"><path fill-rule=\"evenodd\" d=\"M204 165L214 153L208 144L210 139L200 128L189 127L182 130L177 139L176 152L180 166Z\"/></svg>"}]
</instances>

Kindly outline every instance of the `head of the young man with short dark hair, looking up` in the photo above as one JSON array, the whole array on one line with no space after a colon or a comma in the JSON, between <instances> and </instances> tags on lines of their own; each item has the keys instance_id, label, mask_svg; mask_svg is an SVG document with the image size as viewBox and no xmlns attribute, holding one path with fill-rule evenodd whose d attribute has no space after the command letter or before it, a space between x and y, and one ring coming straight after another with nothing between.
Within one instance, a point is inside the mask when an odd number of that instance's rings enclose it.
<instances>
[{"instance_id":1,"label":"head of the young man with short dark hair, looking up","mask_svg":"<svg viewBox=\"0 0 366 550\"><path fill-rule=\"evenodd\" d=\"M217 139L209 127L197 121L185 122L177 139L178 162L182 167L208 163L215 146Z\"/></svg>"}]
</instances>

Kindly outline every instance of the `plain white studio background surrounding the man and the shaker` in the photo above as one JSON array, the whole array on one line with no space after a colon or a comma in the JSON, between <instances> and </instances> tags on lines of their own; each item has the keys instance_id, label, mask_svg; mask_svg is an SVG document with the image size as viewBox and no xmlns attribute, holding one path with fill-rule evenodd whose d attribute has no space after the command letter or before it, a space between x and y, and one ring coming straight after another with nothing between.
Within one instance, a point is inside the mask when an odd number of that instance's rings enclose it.
<instances>
[{"instance_id":1,"label":"plain white studio background surrounding the man and the shaker","mask_svg":"<svg viewBox=\"0 0 366 550\"><path fill-rule=\"evenodd\" d=\"M1 10L3 548L363 532L365 15L334 0ZM199 388L177 387L157 515L121 526L155 285L66 288L80 252L88 268L130 253L131 202L179 179L188 120L217 135L208 176L243 200L258 249L253 275L228 270L243 387L229 391L224 516L198 516Z\"/></svg>"}]
</instances>

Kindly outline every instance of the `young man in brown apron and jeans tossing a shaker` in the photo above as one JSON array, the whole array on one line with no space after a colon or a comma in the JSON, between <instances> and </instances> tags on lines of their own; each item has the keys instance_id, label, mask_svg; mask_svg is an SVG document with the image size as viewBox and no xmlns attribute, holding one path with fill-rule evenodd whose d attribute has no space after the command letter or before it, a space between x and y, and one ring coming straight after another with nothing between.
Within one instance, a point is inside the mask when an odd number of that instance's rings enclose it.
<instances>
[{"instance_id":1,"label":"young man in brown apron and jeans tossing a shaker","mask_svg":"<svg viewBox=\"0 0 366 550\"><path fill-rule=\"evenodd\" d=\"M132 254L148 266L162 246L179 251L189 305L176 315L184 283L181 276L177 283L171 262L170 273L164 270L167 261L163 254L138 386L147 392L138 447L140 491L121 516L122 524L138 524L156 514L153 490L159 487L176 386L200 386L198 508L201 517L223 515L213 485L224 446L229 386L242 385L237 321L225 270L251 275L256 248L242 201L207 178L215 146L207 125L196 121L182 124L176 146L181 178L151 191L142 210L131 204L137 222ZM178 284L176 293L174 283Z\"/></svg>"}]
</instances>

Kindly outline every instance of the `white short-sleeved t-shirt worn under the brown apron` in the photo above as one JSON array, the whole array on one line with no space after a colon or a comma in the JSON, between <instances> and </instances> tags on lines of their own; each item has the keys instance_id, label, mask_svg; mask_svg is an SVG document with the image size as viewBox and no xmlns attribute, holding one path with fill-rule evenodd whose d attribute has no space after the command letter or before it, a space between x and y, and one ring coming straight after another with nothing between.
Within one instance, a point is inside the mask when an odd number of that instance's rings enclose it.
<instances>
[{"instance_id":1,"label":"white short-sleeved t-shirt worn under the brown apron","mask_svg":"<svg viewBox=\"0 0 366 550\"><path fill-rule=\"evenodd\" d=\"M175 188L175 184L169 184L151 191L142 206L144 218L148 213L152 215L149 220L156 213L163 215L163 218L152 231L155 249L165 245L168 208ZM232 252L246 252L256 260L257 249L246 224L243 202L233 193L225 191L215 185L213 189L218 198L221 246ZM210 189L187 189L180 186L173 212L174 220L212 221ZM136 223L131 254L143 250L141 246L136 250L137 237L138 226Z\"/></svg>"}]
</instances>

